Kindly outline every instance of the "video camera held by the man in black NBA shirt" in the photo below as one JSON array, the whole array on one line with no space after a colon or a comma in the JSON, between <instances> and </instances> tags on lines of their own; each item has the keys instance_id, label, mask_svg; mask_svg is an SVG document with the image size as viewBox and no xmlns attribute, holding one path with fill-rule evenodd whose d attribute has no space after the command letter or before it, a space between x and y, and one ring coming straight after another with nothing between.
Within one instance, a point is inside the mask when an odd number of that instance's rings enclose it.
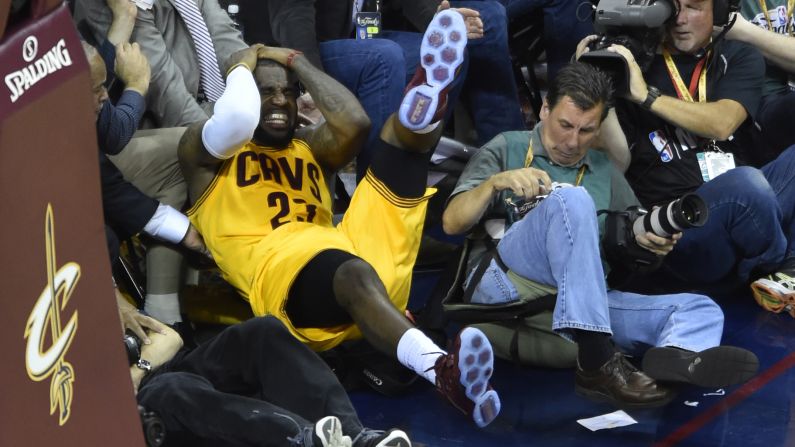
<instances>
[{"instance_id":1,"label":"video camera held by the man in black NBA shirt","mask_svg":"<svg viewBox=\"0 0 795 447\"><path fill-rule=\"evenodd\" d=\"M593 17L599 39L591 43L590 51L580 60L610 75L617 95L627 93L627 62L606 48L613 44L625 46L640 69L646 71L665 35L664 25L676 16L677 7L675 0L599 0Z\"/></svg>"}]
</instances>

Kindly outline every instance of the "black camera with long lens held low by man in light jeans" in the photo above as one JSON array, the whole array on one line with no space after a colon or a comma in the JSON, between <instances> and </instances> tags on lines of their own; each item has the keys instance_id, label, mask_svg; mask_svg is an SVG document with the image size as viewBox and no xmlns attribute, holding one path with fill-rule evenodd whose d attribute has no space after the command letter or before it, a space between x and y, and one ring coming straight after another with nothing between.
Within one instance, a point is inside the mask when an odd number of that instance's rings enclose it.
<instances>
[{"instance_id":1,"label":"black camera with long lens held low by man in light jeans","mask_svg":"<svg viewBox=\"0 0 795 447\"><path fill-rule=\"evenodd\" d=\"M635 241L636 234L650 231L660 237L703 226L709 217L706 202L697 194L685 194L652 212L629 207L626 211L600 211L605 221L605 257L613 269L623 272L650 272L662 263L662 257Z\"/></svg>"}]
</instances>

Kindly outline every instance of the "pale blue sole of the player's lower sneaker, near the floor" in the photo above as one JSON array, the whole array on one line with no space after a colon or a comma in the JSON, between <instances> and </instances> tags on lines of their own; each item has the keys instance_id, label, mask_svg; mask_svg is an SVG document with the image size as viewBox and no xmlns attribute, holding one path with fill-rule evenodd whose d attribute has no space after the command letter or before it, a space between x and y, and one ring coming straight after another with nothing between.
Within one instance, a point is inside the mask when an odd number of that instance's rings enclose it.
<instances>
[{"instance_id":1,"label":"pale blue sole of the player's lower sneaker, near the floor","mask_svg":"<svg viewBox=\"0 0 795 447\"><path fill-rule=\"evenodd\" d=\"M474 402L472 419L478 427L489 425L500 413L500 397L489 389L494 372L494 350L479 329L465 328L459 335L458 371L467 398Z\"/></svg>"}]
</instances>

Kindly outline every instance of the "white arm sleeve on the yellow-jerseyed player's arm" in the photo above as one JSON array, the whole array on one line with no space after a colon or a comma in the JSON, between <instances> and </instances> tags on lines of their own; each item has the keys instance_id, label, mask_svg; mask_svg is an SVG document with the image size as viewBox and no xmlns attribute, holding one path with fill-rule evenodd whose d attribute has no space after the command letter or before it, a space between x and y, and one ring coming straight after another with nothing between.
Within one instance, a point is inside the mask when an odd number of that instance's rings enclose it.
<instances>
[{"instance_id":1,"label":"white arm sleeve on the yellow-jerseyed player's arm","mask_svg":"<svg viewBox=\"0 0 795 447\"><path fill-rule=\"evenodd\" d=\"M259 124L260 96L254 76L239 66L226 78L224 94L204 123L202 142L215 158L225 160L251 140Z\"/></svg>"}]
</instances>

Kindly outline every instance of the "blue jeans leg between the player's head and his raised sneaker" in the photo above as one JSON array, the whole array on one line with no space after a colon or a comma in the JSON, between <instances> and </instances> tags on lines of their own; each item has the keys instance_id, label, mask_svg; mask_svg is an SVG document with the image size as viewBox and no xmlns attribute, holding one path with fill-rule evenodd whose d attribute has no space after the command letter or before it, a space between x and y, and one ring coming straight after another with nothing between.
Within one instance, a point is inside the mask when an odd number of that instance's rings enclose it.
<instances>
[{"instance_id":1,"label":"blue jeans leg between the player's head and his raised sneaker","mask_svg":"<svg viewBox=\"0 0 795 447\"><path fill-rule=\"evenodd\" d=\"M381 128L403 97L403 51L384 39L342 39L322 42L320 57L326 73L359 98L372 122L367 141L356 158L356 178L361 180L370 166Z\"/></svg>"}]
</instances>

